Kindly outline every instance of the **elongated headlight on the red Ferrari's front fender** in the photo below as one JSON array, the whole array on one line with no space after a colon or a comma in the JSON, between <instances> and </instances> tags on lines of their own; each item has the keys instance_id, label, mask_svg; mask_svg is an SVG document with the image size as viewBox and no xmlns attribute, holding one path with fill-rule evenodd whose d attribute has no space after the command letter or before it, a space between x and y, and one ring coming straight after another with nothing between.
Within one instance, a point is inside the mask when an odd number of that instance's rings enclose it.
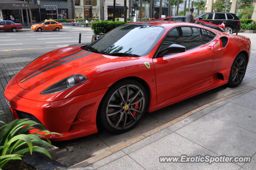
<instances>
[{"instance_id":1,"label":"elongated headlight on the red Ferrari's front fender","mask_svg":"<svg viewBox=\"0 0 256 170\"><path fill-rule=\"evenodd\" d=\"M82 74L74 74L72 76L69 76L67 78L64 78L63 80L60 80L59 82L53 84L52 86L46 88L44 91L42 91L40 94L54 94L61 92L63 90L67 90L69 88L72 88L78 84L81 84L82 82L85 82L87 80L87 77Z\"/></svg>"}]
</instances>

